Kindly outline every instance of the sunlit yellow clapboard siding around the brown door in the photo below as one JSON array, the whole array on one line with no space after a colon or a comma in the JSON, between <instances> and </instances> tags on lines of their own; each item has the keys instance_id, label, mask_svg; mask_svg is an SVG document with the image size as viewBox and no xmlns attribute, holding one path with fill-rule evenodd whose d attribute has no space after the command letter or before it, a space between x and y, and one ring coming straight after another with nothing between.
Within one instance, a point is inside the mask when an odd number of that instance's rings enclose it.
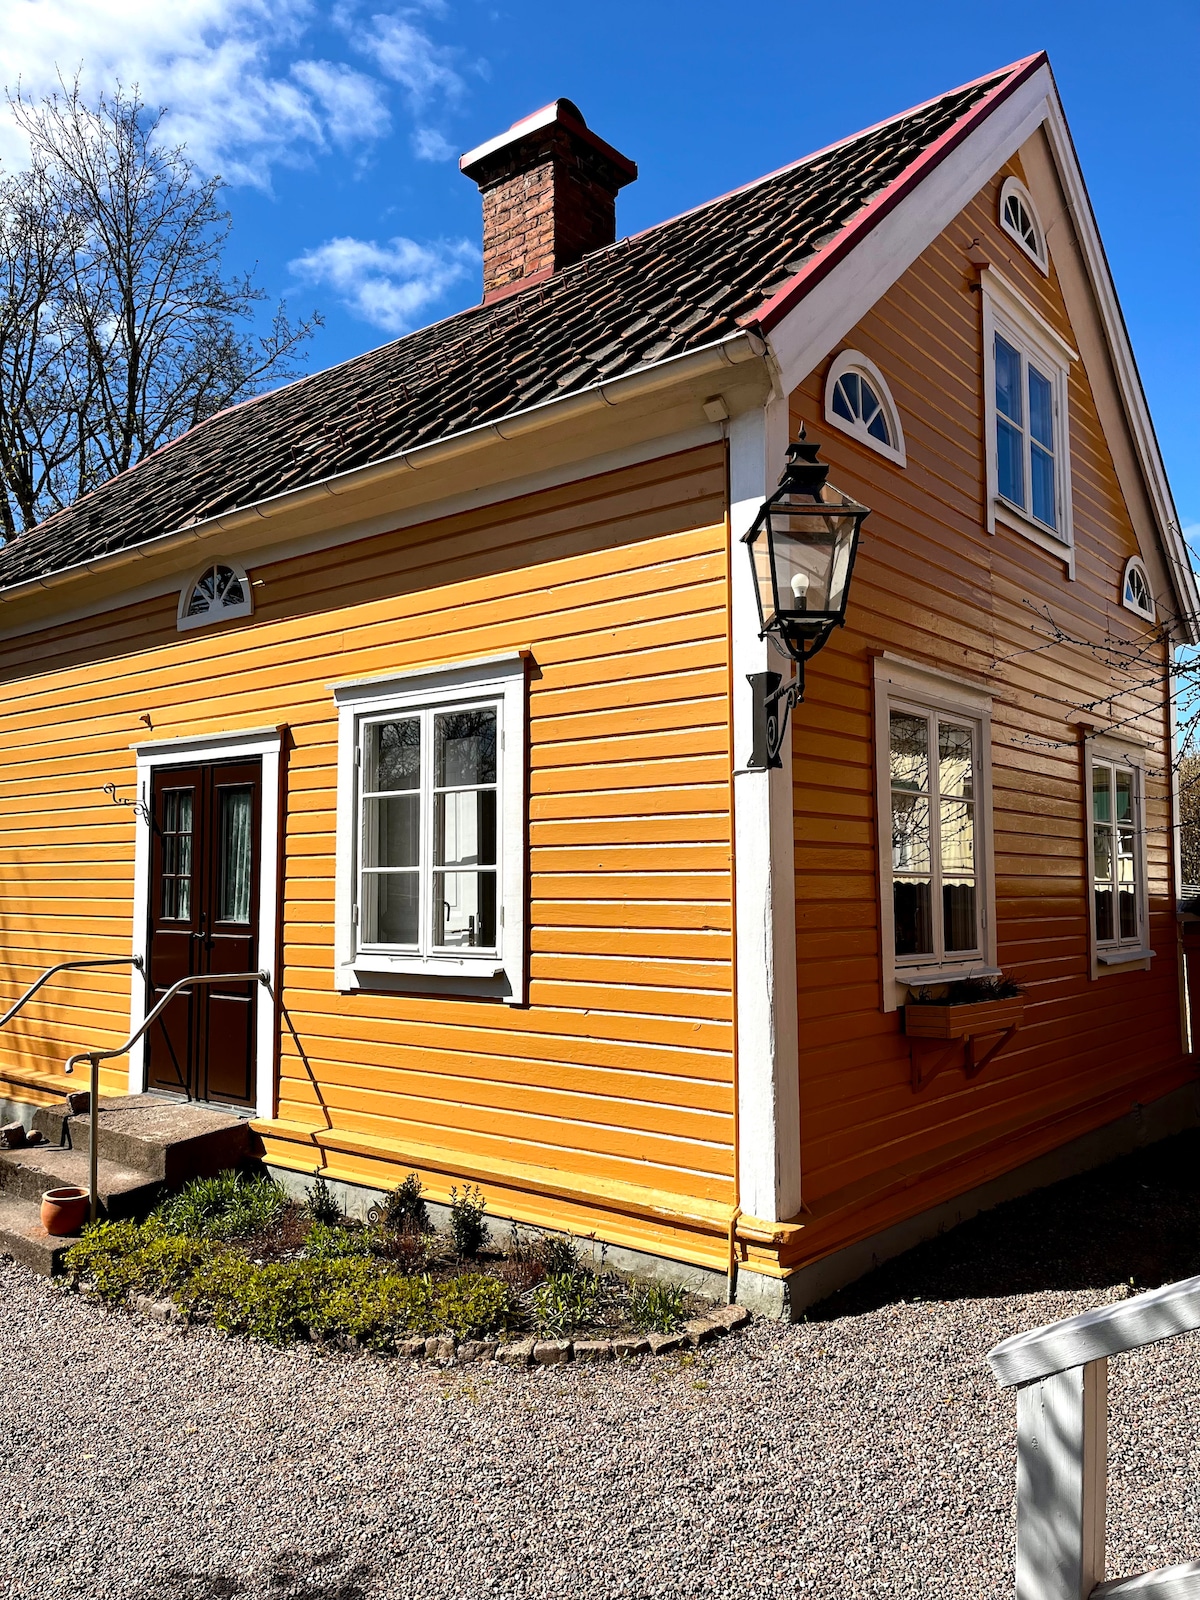
<instances>
[{"instance_id":1,"label":"sunlit yellow clapboard siding around the brown door","mask_svg":"<svg viewBox=\"0 0 1200 1600\"><path fill-rule=\"evenodd\" d=\"M678 1195L685 1213L728 1206L723 453L251 576L250 624L179 635L168 595L0 645L0 997L62 952L130 947L134 822L101 789L130 795L133 742L286 725L282 973L307 1069L285 1029L280 1130L323 1128L323 1106L334 1134L397 1163L437 1147L467 1170L488 1155L554 1168L584 1208L614 1186ZM339 995L328 683L514 648L536 662L528 1008ZM126 1018L120 974L54 990L0 1038L0 1072L53 1075L69 1048L115 1043ZM350 1155L330 1162L355 1171Z\"/></svg>"}]
</instances>

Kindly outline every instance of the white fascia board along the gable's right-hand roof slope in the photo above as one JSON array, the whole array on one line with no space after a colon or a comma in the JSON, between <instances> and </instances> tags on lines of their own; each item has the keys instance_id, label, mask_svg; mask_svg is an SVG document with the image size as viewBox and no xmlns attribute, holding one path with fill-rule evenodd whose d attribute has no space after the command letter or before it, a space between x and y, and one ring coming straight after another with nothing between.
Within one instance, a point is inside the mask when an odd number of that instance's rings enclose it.
<instances>
[{"instance_id":1,"label":"white fascia board along the gable's right-hand roof slope","mask_svg":"<svg viewBox=\"0 0 1200 1600\"><path fill-rule=\"evenodd\" d=\"M1146 403L1138 362L1133 355L1130 331L1125 325L1125 314L1117 299L1117 286L1112 282L1109 258L1104 253L1096 216L1091 210L1091 198L1083 181L1083 171L1075 155L1075 144L1058 99L1058 91L1051 88L1046 114L1046 141L1058 168L1080 245L1083 264L1091 282L1091 291L1099 309L1101 325L1109 346L1112 368L1117 376L1122 405L1130 426L1130 434L1138 451L1138 461L1146 482L1147 494L1158 523L1158 539L1166 558L1166 566L1174 584L1179 602L1179 622L1189 645L1200 643L1200 587L1197 587L1195 570L1187 554L1187 544L1179 526L1179 515L1174 509L1174 496L1166 478L1158 437L1150 419L1150 408Z\"/></svg>"}]
</instances>

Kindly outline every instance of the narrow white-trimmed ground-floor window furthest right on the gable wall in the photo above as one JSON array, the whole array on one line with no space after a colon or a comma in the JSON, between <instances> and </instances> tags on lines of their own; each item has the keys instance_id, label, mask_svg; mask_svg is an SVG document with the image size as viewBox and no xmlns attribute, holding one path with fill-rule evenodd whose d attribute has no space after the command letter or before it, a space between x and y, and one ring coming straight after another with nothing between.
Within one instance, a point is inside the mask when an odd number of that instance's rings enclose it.
<instances>
[{"instance_id":1,"label":"narrow white-trimmed ground-floor window furthest right on the gable wall","mask_svg":"<svg viewBox=\"0 0 1200 1600\"><path fill-rule=\"evenodd\" d=\"M1091 930L1101 965L1149 955L1141 763L1107 746L1088 752Z\"/></svg>"}]
</instances>

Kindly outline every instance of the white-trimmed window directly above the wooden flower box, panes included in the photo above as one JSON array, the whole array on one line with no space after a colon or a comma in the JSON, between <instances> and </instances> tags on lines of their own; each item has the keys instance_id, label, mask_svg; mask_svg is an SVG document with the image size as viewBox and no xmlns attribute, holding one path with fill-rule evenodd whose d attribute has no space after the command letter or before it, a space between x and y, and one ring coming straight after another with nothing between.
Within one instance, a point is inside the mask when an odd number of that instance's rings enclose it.
<instances>
[{"instance_id":1,"label":"white-trimmed window directly above the wooden flower box, panes included","mask_svg":"<svg viewBox=\"0 0 1200 1600\"><path fill-rule=\"evenodd\" d=\"M995 971L989 704L944 674L877 661L885 1005L888 981Z\"/></svg>"}]
</instances>

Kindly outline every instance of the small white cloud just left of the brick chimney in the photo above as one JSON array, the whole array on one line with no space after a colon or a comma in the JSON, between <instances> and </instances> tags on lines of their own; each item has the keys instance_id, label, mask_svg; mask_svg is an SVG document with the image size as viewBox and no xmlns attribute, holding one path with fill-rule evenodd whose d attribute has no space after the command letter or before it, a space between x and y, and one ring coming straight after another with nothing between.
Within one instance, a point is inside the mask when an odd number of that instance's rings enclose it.
<instances>
[{"instance_id":1,"label":"small white cloud just left of the brick chimney","mask_svg":"<svg viewBox=\"0 0 1200 1600\"><path fill-rule=\"evenodd\" d=\"M386 245L331 238L290 262L290 270L304 283L331 288L363 322L400 334L472 274L478 259L478 250L466 238L429 245L411 238L390 238Z\"/></svg>"}]
</instances>

